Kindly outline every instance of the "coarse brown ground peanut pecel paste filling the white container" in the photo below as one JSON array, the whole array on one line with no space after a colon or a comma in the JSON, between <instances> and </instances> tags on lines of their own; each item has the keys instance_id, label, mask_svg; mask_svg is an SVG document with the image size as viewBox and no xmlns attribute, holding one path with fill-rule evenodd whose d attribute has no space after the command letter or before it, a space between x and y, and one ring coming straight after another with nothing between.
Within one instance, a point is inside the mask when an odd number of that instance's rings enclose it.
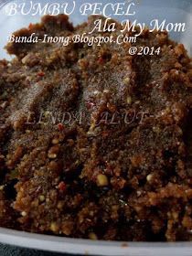
<instances>
[{"instance_id":1,"label":"coarse brown ground peanut pecel paste filling the white container","mask_svg":"<svg viewBox=\"0 0 192 256\"><path fill-rule=\"evenodd\" d=\"M95 18L73 27L67 16L44 16L15 35L82 35ZM116 27L89 37L118 37ZM16 58L0 61L2 227L192 240L190 59L166 32L146 28L133 45L161 52L130 56L129 43L6 46Z\"/></svg>"}]
</instances>

